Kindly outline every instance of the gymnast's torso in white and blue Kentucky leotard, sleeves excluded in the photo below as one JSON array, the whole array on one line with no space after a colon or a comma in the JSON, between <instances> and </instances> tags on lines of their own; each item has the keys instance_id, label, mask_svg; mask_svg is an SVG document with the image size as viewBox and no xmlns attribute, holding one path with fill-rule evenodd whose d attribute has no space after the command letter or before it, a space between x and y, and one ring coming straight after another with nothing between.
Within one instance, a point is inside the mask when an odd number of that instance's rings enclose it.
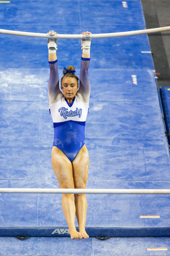
<instances>
[{"instance_id":1,"label":"gymnast's torso in white and blue Kentucky leotard, sleeves excluded","mask_svg":"<svg viewBox=\"0 0 170 256\"><path fill-rule=\"evenodd\" d=\"M89 104L82 102L77 95L71 104L65 97L51 104L54 126L53 146L58 147L73 161L85 143L85 122Z\"/></svg>"}]
</instances>

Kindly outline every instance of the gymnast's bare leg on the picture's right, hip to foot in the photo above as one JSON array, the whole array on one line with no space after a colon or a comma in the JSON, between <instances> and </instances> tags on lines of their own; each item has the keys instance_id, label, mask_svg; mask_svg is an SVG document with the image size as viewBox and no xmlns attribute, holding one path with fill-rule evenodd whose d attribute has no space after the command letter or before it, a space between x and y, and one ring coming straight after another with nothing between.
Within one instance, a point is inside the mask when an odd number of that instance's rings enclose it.
<instances>
[{"instance_id":1,"label":"gymnast's bare leg on the picture's right, hip to foot","mask_svg":"<svg viewBox=\"0 0 170 256\"><path fill-rule=\"evenodd\" d=\"M86 188L87 175L89 169L89 154L84 145L74 160L72 161L74 186L75 188ZM75 194L76 216L79 224L79 232L83 238L88 238L89 235L85 231L87 200L86 194Z\"/></svg>"}]
</instances>

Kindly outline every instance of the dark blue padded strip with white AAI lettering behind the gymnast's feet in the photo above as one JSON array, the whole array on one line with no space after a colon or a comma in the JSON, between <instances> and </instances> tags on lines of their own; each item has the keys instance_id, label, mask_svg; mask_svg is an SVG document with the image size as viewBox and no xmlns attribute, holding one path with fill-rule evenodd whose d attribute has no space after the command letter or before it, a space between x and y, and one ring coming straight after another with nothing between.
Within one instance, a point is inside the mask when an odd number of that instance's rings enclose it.
<instances>
[{"instance_id":1,"label":"dark blue padded strip with white AAI lettering behind the gymnast's feet","mask_svg":"<svg viewBox=\"0 0 170 256\"><path fill-rule=\"evenodd\" d=\"M78 231L78 228L77 228ZM170 227L86 227L90 237L166 237L170 235ZM68 227L44 226L44 227L0 227L0 236L52 236L69 237Z\"/></svg>"}]
</instances>

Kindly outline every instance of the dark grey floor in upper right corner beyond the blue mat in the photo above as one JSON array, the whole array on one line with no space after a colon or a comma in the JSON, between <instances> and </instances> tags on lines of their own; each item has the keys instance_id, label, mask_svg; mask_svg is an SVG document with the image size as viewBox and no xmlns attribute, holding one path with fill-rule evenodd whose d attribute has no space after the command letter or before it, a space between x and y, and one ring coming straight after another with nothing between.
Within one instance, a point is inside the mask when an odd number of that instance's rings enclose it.
<instances>
[{"instance_id":1,"label":"dark grey floor in upper right corner beyond the blue mat","mask_svg":"<svg viewBox=\"0 0 170 256\"><path fill-rule=\"evenodd\" d=\"M170 0L141 1L147 28L170 26ZM158 85L170 86L170 31L152 33L148 36Z\"/></svg>"}]
</instances>

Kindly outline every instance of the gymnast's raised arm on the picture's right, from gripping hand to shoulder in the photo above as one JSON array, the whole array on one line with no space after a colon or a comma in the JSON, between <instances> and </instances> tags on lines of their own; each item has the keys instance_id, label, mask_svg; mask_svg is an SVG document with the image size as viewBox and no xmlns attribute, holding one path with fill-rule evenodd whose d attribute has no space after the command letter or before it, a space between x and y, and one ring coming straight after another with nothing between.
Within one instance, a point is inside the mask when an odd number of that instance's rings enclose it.
<instances>
[{"instance_id":1,"label":"gymnast's raised arm on the picture's right, from gripping hand to shoulder","mask_svg":"<svg viewBox=\"0 0 170 256\"><path fill-rule=\"evenodd\" d=\"M91 34L90 32L83 32L87 37L82 39L82 58L81 58L81 71L80 71L80 86L77 91L77 96L83 102L89 102L90 97L90 80L88 76L88 67L90 62L90 44L91 38L88 36Z\"/></svg>"}]
</instances>

